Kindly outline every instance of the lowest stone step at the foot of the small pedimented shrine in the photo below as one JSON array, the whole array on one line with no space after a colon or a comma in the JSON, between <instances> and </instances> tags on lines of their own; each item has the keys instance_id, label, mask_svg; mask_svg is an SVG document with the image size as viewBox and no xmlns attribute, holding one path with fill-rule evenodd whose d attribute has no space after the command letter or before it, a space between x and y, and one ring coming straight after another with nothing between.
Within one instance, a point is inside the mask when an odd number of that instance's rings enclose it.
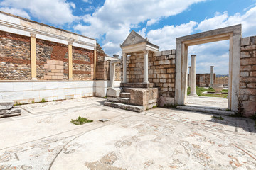
<instances>
[{"instance_id":1,"label":"lowest stone step at the foot of the small pedimented shrine","mask_svg":"<svg viewBox=\"0 0 256 170\"><path fill-rule=\"evenodd\" d=\"M116 103L116 102L110 102L110 101L105 101L104 102L105 106L110 106L113 108L121 108L127 111L134 111L134 112L142 112L144 111L143 106L134 106L134 105L128 105L128 104L123 104L123 103Z\"/></svg>"}]
</instances>

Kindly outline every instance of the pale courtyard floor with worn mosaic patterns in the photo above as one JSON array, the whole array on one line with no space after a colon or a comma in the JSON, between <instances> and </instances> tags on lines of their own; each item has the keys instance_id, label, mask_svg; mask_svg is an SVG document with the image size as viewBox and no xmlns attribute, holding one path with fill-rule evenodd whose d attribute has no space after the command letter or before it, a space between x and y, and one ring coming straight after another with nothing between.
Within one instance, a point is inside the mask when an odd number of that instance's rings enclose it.
<instances>
[{"instance_id":1,"label":"pale courtyard floor with worn mosaic patterns","mask_svg":"<svg viewBox=\"0 0 256 170\"><path fill-rule=\"evenodd\" d=\"M256 169L251 119L171 108L134 113L103 101L23 105L21 116L0 119L0 169ZM94 122L70 123L79 115Z\"/></svg>"}]
</instances>

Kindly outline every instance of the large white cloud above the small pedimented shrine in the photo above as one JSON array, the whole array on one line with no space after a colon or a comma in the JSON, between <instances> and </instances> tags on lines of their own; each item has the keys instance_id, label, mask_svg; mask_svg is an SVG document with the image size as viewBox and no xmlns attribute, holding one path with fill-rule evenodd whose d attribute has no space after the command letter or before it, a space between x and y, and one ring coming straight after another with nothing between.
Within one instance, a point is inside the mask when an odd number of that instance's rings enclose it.
<instances>
[{"instance_id":1,"label":"large white cloud above the small pedimented shrine","mask_svg":"<svg viewBox=\"0 0 256 170\"><path fill-rule=\"evenodd\" d=\"M106 0L94 13L83 17L85 25L78 24L74 29L92 38L105 37L102 46L105 51L110 51L105 43L112 42L119 47L129 35L130 29L137 28L139 23L148 21L149 25L153 24L159 18L181 13L191 4L200 1L206 0Z\"/></svg>"}]
</instances>

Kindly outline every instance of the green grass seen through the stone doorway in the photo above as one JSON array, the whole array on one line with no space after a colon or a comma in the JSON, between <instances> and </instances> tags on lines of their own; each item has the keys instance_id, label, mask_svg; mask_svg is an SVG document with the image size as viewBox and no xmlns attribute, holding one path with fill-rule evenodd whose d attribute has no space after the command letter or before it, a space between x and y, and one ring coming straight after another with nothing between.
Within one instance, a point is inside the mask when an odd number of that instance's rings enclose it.
<instances>
[{"instance_id":1,"label":"green grass seen through the stone doorway","mask_svg":"<svg viewBox=\"0 0 256 170\"><path fill-rule=\"evenodd\" d=\"M198 96L206 96L206 97L221 97L221 98L226 98L228 94L203 94L203 92L208 91L208 92L215 92L213 88L204 88L204 87L196 87L196 94ZM228 93L228 90L223 90L223 92ZM191 94L191 88L188 87L187 89L187 95Z\"/></svg>"}]
</instances>

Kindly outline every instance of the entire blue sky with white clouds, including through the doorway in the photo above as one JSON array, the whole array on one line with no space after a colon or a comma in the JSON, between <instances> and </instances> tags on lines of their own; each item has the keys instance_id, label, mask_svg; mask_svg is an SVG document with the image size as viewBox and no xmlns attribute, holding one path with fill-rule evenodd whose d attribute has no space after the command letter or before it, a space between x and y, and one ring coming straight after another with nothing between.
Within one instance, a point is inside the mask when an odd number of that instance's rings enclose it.
<instances>
[{"instance_id":1,"label":"entire blue sky with white clouds, including through the doorway","mask_svg":"<svg viewBox=\"0 0 256 170\"><path fill-rule=\"evenodd\" d=\"M256 35L256 0L1 0L0 11L97 39L108 55L131 30L160 50L175 38L242 23L242 37ZM188 48L196 72L228 74L228 40ZM188 57L188 62L190 62Z\"/></svg>"}]
</instances>

